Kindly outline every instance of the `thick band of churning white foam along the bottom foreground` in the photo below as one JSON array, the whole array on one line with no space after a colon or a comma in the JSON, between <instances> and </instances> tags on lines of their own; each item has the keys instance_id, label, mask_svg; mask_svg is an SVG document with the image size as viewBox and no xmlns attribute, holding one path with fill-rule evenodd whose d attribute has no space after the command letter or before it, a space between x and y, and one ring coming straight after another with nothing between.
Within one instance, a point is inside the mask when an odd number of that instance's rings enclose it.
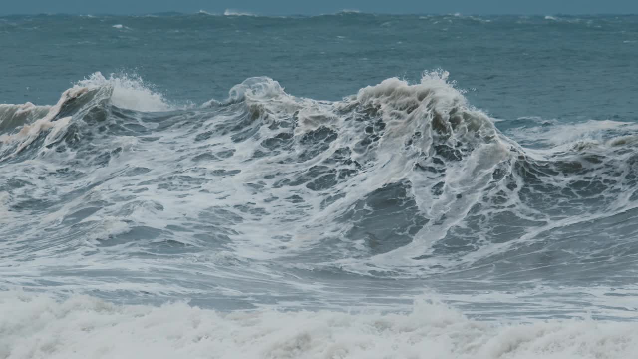
<instances>
[{"instance_id":1,"label":"thick band of churning white foam along the bottom foreground","mask_svg":"<svg viewBox=\"0 0 638 359\"><path fill-rule=\"evenodd\" d=\"M627 359L638 324L495 323L419 301L404 314L216 312L174 303L114 305L89 296L0 296L0 357Z\"/></svg>"}]
</instances>

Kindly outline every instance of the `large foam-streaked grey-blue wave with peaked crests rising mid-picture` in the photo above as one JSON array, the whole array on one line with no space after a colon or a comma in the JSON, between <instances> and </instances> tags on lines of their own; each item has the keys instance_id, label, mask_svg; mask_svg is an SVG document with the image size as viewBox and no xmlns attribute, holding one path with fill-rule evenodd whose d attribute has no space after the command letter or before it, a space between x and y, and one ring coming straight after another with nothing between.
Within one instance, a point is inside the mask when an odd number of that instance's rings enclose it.
<instances>
[{"instance_id":1,"label":"large foam-streaked grey-blue wave with peaked crests rising mid-picture","mask_svg":"<svg viewBox=\"0 0 638 359\"><path fill-rule=\"evenodd\" d=\"M46 114L4 112L8 253L103 255L111 270L212 250L288 270L634 281L626 128L524 148L447 73L338 102L261 77L188 109L130 79L87 81Z\"/></svg>"}]
</instances>

